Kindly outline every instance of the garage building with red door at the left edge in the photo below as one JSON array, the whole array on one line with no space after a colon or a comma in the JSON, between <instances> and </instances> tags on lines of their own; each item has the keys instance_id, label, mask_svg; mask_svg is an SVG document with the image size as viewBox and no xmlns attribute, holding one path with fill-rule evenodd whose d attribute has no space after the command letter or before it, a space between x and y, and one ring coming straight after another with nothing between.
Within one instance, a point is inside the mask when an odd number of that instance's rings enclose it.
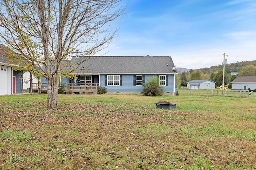
<instances>
[{"instance_id":1,"label":"garage building with red door at the left edge","mask_svg":"<svg viewBox=\"0 0 256 170\"><path fill-rule=\"evenodd\" d=\"M14 64L10 64L3 56L2 48L5 46L0 45L0 95L11 95L22 93L21 71L13 70Z\"/></svg>"}]
</instances>

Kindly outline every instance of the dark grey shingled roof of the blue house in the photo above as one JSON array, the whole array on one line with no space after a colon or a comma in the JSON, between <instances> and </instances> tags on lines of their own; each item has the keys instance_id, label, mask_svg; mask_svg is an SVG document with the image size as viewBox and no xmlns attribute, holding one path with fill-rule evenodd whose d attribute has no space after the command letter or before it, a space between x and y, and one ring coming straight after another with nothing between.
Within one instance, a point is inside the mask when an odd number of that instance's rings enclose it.
<instances>
[{"instance_id":1,"label":"dark grey shingled roof of the blue house","mask_svg":"<svg viewBox=\"0 0 256 170\"><path fill-rule=\"evenodd\" d=\"M79 60L79 57L72 60ZM172 57L93 56L74 74L175 74ZM82 68L88 68L83 70Z\"/></svg>"}]
</instances>

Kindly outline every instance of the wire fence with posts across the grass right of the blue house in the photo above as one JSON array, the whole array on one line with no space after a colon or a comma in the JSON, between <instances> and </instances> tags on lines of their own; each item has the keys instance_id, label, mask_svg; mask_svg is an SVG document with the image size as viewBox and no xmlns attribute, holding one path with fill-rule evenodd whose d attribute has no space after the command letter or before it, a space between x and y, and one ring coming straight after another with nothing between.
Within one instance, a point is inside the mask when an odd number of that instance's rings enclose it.
<instances>
[{"instance_id":1,"label":"wire fence with posts across the grass right of the blue house","mask_svg":"<svg viewBox=\"0 0 256 170\"><path fill-rule=\"evenodd\" d=\"M206 89L206 90L190 90L190 89L176 89L176 95L180 96L227 96L227 97L238 97L238 98L248 98L251 94L249 90L222 90L218 89Z\"/></svg>"}]
</instances>

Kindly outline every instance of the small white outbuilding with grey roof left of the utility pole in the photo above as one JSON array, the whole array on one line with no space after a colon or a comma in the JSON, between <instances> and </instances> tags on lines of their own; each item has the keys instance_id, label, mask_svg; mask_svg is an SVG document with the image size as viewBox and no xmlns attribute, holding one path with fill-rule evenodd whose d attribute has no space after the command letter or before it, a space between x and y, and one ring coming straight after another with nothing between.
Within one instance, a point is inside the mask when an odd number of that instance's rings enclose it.
<instances>
[{"instance_id":1,"label":"small white outbuilding with grey roof left of the utility pole","mask_svg":"<svg viewBox=\"0 0 256 170\"><path fill-rule=\"evenodd\" d=\"M212 80L192 80L187 84L187 89L197 90L197 89L214 89L215 82Z\"/></svg>"}]
</instances>

